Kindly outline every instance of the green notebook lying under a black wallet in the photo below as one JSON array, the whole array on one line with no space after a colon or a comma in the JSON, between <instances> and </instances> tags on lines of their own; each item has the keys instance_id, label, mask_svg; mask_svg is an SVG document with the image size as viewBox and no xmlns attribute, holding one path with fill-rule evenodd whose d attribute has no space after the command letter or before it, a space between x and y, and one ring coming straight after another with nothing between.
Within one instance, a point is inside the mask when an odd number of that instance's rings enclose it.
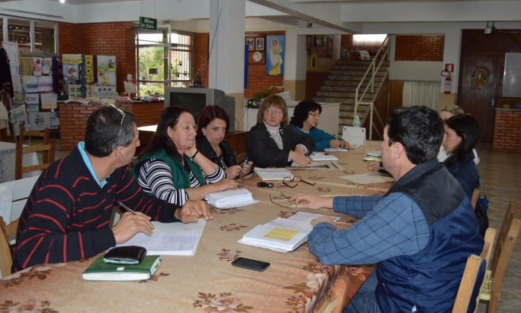
<instances>
[{"instance_id":1,"label":"green notebook lying under a black wallet","mask_svg":"<svg viewBox=\"0 0 521 313\"><path fill-rule=\"evenodd\" d=\"M140 264L106 263L100 255L83 272L84 280L148 280L160 266L159 255L147 255Z\"/></svg>"}]
</instances>

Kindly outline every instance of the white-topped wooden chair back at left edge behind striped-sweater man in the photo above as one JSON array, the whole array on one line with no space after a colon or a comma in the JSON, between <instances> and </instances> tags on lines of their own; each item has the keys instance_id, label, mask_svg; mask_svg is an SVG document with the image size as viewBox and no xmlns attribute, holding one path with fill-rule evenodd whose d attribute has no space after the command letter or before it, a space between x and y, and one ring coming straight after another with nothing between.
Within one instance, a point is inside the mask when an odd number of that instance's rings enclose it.
<instances>
[{"instance_id":1,"label":"white-topped wooden chair back at left edge behind striped-sweater man","mask_svg":"<svg viewBox=\"0 0 521 313\"><path fill-rule=\"evenodd\" d=\"M17 232L18 218L22 215L27 198L38 177L28 177L0 184L0 274L10 275L13 259L10 237Z\"/></svg>"}]
</instances>

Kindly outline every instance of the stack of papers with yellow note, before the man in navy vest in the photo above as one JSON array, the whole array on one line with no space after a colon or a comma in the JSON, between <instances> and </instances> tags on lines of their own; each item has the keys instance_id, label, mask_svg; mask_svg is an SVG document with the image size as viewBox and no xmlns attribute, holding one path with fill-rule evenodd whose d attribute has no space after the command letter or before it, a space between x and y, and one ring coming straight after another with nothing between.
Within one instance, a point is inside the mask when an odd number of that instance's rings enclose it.
<instances>
[{"instance_id":1,"label":"stack of papers with yellow note, before the man in navy vest","mask_svg":"<svg viewBox=\"0 0 521 313\"><path fill-rule=\"evenodd\" d=\"M320 216L298 212L290 218L276 218L270 223L254 227L242 236L239 243L279 252L293 251L308 240L308 234L313 230L311 220Z\"/></svg>"}]
</instances>

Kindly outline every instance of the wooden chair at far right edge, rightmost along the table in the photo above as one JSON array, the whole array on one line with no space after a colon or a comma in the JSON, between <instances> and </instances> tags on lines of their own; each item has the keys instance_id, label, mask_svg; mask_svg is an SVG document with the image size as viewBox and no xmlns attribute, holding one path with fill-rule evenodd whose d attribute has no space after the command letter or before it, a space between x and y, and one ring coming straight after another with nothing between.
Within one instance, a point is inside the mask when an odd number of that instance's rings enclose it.
<instances>
[{"instance_id":1,"label":"wooden chair at far right edge, rightmost along the table","mask_svg":"<svg viewBox=\"0 0 521 313\"><path fill-rule=\"evenodd\" d=\"M481 294L479 295L480 300L487 301L486 312L495 313L499 306L499 294L506 271L506 264L508 264L508 260L512 255L512 250L516 239L518 239L521 227L521 220L515 218L517 211L518 202L510 202L503 225L499 231L499 236L497 237L492 266L486 273L485 284L483 284Z\"/></svg>"}]
</instances>

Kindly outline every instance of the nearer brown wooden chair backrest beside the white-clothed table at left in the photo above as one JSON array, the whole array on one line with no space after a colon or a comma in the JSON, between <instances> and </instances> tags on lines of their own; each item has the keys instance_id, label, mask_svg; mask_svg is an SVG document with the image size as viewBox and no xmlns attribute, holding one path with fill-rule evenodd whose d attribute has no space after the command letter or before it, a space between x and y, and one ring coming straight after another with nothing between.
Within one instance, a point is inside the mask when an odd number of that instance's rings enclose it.
<instances>
[{"instance_id":1,"label":"nearer brown wooden chair backrest beside the white-clothed table at left","mask_svg":"<svg viewBox=\"0 0 521 313\"><path fill-rule=\"evenodd\" d=\"M23 166L23 157L26 153L42 152L42 163L32 166ZM20 142L16 143L15 179L21 179L24 172L44 170L54 161L56 154L56 140L49 140L49 144L37 144L24 147Z\"/></svg>"}]
</instances>

